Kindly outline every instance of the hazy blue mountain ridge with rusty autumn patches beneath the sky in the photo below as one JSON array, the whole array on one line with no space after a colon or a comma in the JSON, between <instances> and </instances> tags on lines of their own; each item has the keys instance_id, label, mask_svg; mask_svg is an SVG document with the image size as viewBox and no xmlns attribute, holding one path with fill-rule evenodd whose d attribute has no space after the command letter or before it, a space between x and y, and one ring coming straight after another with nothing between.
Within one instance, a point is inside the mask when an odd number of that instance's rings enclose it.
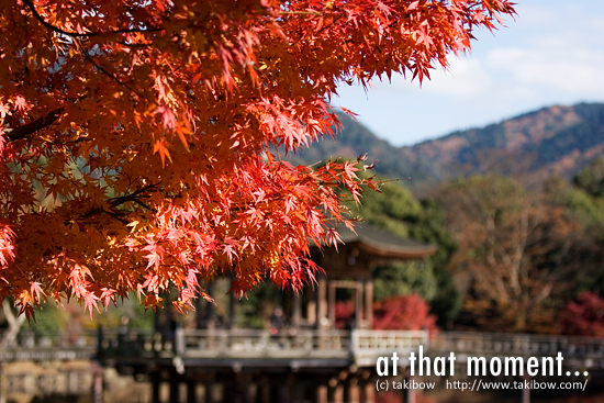
<instances>
[{"instance_id":1,"label":"hazy blue mountain ridge with rusty autumn patches beneath the sky","mask_svg":"<svg viewBox=\"0 0 604 403\"><path fill-rule=\"evenodd\" d=\"M374 172L411 178L411 187L472 173L510 175L536 184L551 175L571 178L604 152L604 103L549 107L482 128L394 147L347 115L336 142L325 138L291 157L314 164L368 154Z\"/></svg>"}]
</instances>

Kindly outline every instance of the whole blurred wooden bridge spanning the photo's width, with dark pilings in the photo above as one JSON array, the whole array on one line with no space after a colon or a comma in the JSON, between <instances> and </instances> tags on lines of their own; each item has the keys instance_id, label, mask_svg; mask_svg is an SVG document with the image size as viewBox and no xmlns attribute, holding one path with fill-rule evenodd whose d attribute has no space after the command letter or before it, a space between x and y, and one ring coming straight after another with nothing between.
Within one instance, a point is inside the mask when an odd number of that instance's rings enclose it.
<instances>
[{"instance_id":1,"label":"whole blurred wooden bridge spanning the photo's width, with dark pilings","mask_svg":"<svg viewBox=\"0 0 604 403\"><path fill-rule=\"evenodd\" d=\"M458 363L476 356L528 358L561 352L564 370L589 370L591 378L604 379L601 338L460 332L433 337L426 332L368 329L271 334L177 328L172 337L137 329L108 329L75 338L24 334L16 344L0 345L0 362L8 368L18 361L98 359L150 381L153 402L180 401L183 393L189 402L372 402L378 357L396 352L404 368L420 346L433 358L452 351ZM42 372L4 370L0 388L37 385L42 392L56 392L64 384L66 391L90 391L94 377L85 372L93 367L82 368L78 373L55 371L53 379Z\"/></svg>"}]
</instances>

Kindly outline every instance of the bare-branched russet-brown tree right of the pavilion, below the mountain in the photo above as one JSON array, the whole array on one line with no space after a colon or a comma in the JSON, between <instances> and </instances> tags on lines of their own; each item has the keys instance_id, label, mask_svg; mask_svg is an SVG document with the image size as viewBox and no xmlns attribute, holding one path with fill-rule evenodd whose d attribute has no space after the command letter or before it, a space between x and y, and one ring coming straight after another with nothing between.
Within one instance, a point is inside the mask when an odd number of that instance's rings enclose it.
<instances>
[{"instance_id":1,"label":"bare-branched russet-brown tree right of the pavilion, below the mountain","mask_svg":"<svg viewBox=\"0 0 604 403\"><path fill-rule=\"evenodd\" d=\"M547 197L511 178L477 176L437 191L459 249L465 310L490 329L547 331L556 293L568 291L578 224Z\"/></svg>"}]
</instances>

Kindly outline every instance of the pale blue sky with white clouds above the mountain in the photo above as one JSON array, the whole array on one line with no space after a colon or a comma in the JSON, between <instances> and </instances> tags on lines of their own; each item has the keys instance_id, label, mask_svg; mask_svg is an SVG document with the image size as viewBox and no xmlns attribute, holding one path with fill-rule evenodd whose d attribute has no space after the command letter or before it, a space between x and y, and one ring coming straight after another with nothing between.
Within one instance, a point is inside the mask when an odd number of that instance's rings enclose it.
<instances>
[{"instance_id":1,"label":"pale blue sky with white clouds above the mountain","mask_svg":"<svg viewBox=\"0 0 604 403\"><path fill-rule=\"evenodd\" d=\"M517 0L518 15L432 80L343 86L334 105L394 145L479 127L552 104L604 102L604 0Z\"/></svg>"}]
</instances>

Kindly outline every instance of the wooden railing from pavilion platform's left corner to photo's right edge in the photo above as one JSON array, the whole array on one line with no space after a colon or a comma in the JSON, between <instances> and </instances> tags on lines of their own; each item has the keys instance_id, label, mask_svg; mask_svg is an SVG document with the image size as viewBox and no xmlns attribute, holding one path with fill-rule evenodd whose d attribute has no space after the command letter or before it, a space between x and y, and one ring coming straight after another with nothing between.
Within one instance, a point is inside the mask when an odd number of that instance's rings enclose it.
<instances>
[{"instance_id":1,"label":"wooden railing from pavilion platform's left corner to photo's right edge","mask_svg":"<svg viewBox=\"0 0 604 403\"><path fill-rule=\"evenodd\" d=\"M403 356L420 346L432 356L454 351L468 356L549 357L561 352L564 360L604 363L604 338L478 332L443 332L429 336L423 331L295 331L270 334L260 329L176 329L165 339L150 331L103 332L101 356L192 360L348 360L374 366L378 357L396 351ZM125 355L125 356L124 356ZM2 354L0 352L0 357Z\"/></svg>"}]
</instances>

